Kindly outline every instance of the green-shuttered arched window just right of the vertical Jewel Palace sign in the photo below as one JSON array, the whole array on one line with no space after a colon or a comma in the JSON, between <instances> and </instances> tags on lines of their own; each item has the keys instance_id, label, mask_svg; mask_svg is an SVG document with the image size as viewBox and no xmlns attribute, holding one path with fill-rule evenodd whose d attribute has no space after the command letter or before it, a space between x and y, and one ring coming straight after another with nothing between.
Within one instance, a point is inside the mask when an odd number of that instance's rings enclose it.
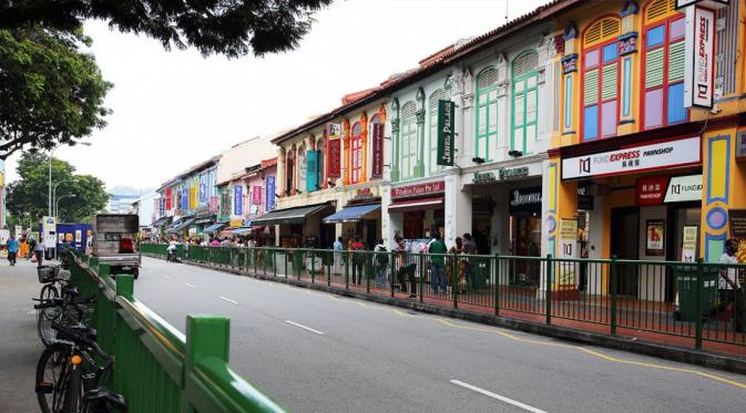
<instances>
[{"instance_id":1,"label":"green-shuttered arched window just right of the vertical Jewel Palace sign","mask_svg":"<svg viewBox=\"0 0 746 413\"><path fill-rule=\"evenodd\" d=\"M487 68L477 75L477 145L474 154L492 161L498 146L498 70Z\"/></svg>"}]
</instances>

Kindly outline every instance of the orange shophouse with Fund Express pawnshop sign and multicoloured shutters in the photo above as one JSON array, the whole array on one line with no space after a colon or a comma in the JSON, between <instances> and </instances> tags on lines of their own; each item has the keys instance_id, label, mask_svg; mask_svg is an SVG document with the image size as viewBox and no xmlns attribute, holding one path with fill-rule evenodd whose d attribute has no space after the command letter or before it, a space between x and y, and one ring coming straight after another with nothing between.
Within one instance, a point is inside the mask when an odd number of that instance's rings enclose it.
<instances>
[{"instance_id":1,"label":"orange shophouse with Fund Express pawnshop sign and multicoloured shutters","mask_svg":"<svg viewBox=\"0 0 746 413\"><path fill-rule=\"evenodd\" d=\"M549 254L717 261L737 236L729 219L746 208L746 8L695 3L587 2L553 18L561 122L543 180ZM674 299L670 269L621 271L620 293ZM595 293L607 293L609 280L578 268L555 278Z\"/></svg>"}]
</instances>

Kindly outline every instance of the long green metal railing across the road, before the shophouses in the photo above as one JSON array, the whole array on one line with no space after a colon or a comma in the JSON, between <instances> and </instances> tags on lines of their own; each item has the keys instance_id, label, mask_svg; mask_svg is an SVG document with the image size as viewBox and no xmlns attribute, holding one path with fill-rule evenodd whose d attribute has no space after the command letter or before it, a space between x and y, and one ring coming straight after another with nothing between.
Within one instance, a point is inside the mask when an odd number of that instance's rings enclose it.
<instances>
[{"instance_id":1,"label":"long green metal railing across the road, before the shophouses","mask_svg":"<svg viewBox=\"0 0 746 413\"><path fill-rule=\"evenodd\" d=\"M165 245L141 248L149 256L166 255ZM609 334L675 335L691 340L696 349L703 342L746 345L746 265L276 247L180 246L178 256L246 275L293 278L546 324ZM740 278L740 290L718 288L725 273Z\"/></svg>"}]
</instances>

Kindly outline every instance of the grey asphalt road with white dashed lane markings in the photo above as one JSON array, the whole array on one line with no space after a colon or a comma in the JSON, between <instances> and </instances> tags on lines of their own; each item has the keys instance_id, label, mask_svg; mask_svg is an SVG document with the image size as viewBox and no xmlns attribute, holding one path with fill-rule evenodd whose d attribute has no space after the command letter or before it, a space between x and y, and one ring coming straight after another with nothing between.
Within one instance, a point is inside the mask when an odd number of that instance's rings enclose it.
<instances>
[{"instance_id":1,"label":"grey asphalt road with white dashed lane markings","mask_svg":"<svg viewBox=\"0 0 746 413\"><path fill-rule=\"evenodd\" d=\"M738 412L746 376L143 259L184 331L231 318L231 363L296 412Z\"/></svg>"}]
</instances>

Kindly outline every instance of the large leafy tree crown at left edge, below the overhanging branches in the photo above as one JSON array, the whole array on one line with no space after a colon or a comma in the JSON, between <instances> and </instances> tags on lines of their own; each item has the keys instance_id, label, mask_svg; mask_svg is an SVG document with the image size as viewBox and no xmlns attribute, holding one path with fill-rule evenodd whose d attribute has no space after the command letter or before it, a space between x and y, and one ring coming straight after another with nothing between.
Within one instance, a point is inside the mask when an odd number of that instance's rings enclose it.
<instances>
[{"instance_id":1,"label":"large leafy tree crown at left edge, below the overhanging branches","mask_svg":"<svg viewBox=\"0 0 746 413\"><path fill-rule=\"evenodd\" d=\"M0 159L24 146L74 145L106 125L112 84L83 44L90 39L82 31L0 30Z\"/></svg>"}]
</instances>

